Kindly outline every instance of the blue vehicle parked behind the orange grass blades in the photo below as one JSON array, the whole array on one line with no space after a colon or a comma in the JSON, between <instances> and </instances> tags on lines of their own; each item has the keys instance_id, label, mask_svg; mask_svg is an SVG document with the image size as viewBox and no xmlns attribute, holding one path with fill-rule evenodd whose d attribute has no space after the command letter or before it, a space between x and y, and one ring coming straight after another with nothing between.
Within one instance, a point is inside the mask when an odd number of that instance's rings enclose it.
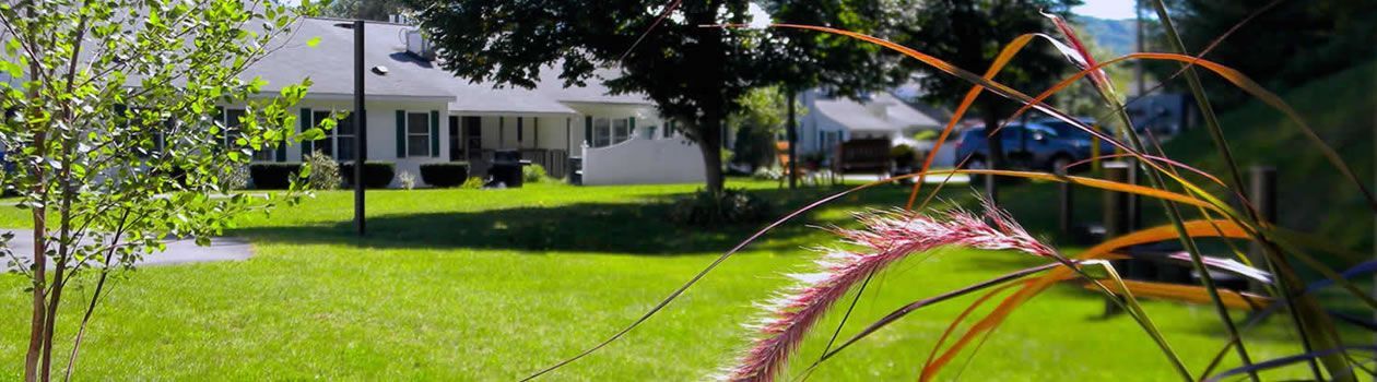
<instances>
[{"instance_id":1,"label":"blue vehicle parked behind the orange grass blades","mask_svg":"<svg viewBox=\"0 0 1377 382\"><path fill-rule=\"evenodd\" d=\"M1084 121L1093 125L1093 121ZM1088 159L1097 142L1085 131L1058 120L1013 122L1000 131L1008 168L1024 168L1064 173L1067 165ZM1100 155L1114 153L1114 146L1099 142ZM969 157L969 159L967 159ZM956 161L965 159L963 168L989 168L990 144L985 128L963 131L956 142ZM1074 170L1074 169L1073 169Z\"/></svg>"}]
</instances>

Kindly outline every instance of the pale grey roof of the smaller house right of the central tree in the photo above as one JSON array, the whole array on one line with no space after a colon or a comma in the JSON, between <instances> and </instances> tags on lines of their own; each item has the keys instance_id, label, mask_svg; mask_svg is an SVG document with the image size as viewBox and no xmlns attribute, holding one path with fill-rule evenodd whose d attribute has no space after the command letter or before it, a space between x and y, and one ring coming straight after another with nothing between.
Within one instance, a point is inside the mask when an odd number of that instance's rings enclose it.
<instances>
[{"instance_id":1,"label":"pale grey roof of the smaller house right of the central tree","mask_svg":"<svg viewBox=\"0 0 1377 382\"><path fill-rule=\"evenodd\" d=\"M888 92L877 92L872 99L818 99L814 109L850 131L903 132L916 128L935 129L938 120L910 107Z\"/></svg>"}]
</instances>

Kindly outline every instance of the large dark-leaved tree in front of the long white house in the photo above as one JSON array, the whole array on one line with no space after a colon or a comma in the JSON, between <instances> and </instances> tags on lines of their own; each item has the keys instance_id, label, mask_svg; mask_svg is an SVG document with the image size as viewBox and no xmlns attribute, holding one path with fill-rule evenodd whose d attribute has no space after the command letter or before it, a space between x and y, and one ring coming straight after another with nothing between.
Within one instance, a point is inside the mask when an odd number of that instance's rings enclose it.
<instances>
[{"instance_id":1,"label":"large dark-leaved tree in front of the long white house","mask_svg":"<svg viewBox=\"0 0 1377 382\"><path fill-rule=\"evenodd\" d=\"M803 7L808 1L796 3ZM779 84L779 74L771 73L779 58L763 48L774 32L704 27L748 22L748 0L410 4L419 10L421 27L442 48L441 66L459 77L529 88L541 70L558 63L565 85L581 85L599 67L618 67L620 76L605 84L614 93L644 93L661 115L679 122L702 151L712 192L722 191L724 121L741 109L746 91Z\"/></svg>"}]
</instances>

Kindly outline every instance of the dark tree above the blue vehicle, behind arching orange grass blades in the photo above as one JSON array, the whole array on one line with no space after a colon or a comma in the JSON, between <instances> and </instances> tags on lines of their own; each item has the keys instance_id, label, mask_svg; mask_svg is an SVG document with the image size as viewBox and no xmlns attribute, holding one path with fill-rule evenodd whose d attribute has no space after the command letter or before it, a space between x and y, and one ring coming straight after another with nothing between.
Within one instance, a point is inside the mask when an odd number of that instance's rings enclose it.
<instances>
[{"instance_id":1,"label":"dark tree above the blue vehicle, behind arching orange grass blades","mask_svg":"<svg viewBox=\"0 0 1377 382\"><path fill-rule=\"evenodd\" d=\"M896 43L924 54L936 56L961 69L983 73L998 55L1000 48L1015 37L1047 30L1048 21L1040 12L1053 12L1067 16L1070 7L1078 0L932 0L917 8L917 21L899 25ZM928 66L912 62L917 70L931 73L923 77L925 99L947 104L961 102L971 84L936 71ZM997 81L1013 87L1041 92L1055 84L1069 63L1051 48L1020 52L1013 62L996 77ZM975 109L985 121L989 135L1005 115L1012 114L1018 103L982 92ZM986 166L1002 168L1005 158L1000 135L989 136L990 158ZM963 159L963 158L958 158ZM986 192L996 199L993 177L985 177Z\"/></svg>"}]
</instances>

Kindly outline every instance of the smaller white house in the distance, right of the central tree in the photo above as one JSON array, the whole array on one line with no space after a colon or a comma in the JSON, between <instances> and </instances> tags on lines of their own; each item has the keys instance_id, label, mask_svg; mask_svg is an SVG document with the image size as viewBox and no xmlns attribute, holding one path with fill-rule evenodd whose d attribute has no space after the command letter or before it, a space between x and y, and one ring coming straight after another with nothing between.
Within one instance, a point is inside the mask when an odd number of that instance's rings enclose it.
<instances>
[{"instance_id":1,"label":"smaller white house in the distance, right of the central tree","mask_svg":"<svg viewBox=\"0 0 1377 382\"><path fill-rule=\"evenodd\" d=\"M946 124L939 113L914 107L891 92L850 99L811 89L800 93L799 102L808 110L799 120L799 150L826 157L834 153L839 143L852 139L888 139L892 144L927 150L925 146L931 144L916 142L913 136L920 131L940 132ZM938 165L946 162L940 157L945 155L939 155Z\"/></svg>"}]
</instances>

